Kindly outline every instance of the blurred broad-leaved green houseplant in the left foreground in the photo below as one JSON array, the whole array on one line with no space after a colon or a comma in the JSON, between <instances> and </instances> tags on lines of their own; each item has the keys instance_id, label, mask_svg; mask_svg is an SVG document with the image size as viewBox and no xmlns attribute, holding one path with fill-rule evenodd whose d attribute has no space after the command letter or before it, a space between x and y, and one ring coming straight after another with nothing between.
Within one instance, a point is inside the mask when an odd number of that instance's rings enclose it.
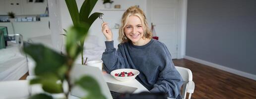
<instances>
[{"instance_id":1,"label":"blurred broad-leaved green houseplant in the left foreground","mask_svg":"<svg viewBox=\"0 0 256 99\"><path fill-rule=\"evenodd\" d=\"M87 24L73 26L67 31L66 35L66 54L61 54L49 49L42 44L24 43L24 52L31 56L35 62L36 78L30 81L30 84L41 84L42 89L48 93L36 94L29 99L53 99L51 94L65 94L65 99L74 85L80 86L89 95L84 99L106 99L95 79L90 76L83 76L74 84L70 83L70 71L73 67L75 58L81 51L78 42L86 37L86 30L89 28ZM59 82L59 83L58 83ZM68 83L69 91L64 92L63 84Z\"/></svg>"}]
</instances>

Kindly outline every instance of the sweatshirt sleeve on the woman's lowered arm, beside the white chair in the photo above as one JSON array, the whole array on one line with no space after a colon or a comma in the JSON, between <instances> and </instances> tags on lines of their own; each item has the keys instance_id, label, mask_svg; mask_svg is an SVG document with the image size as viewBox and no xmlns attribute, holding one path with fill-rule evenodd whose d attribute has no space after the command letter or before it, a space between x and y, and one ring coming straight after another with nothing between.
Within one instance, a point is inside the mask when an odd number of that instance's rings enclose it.
<instances>
[{"instance_id":1,"label":"sweatshirt sleeve on the woman's lowered arm, beside the white chair","mask_svg":"<svg viewBox=\"0 0 256 99\"><path fill-rule=\"evenodd\" d=\"M183 79L173 64L170 52L165 45L163 46L165 51L162 55L164 56L164 63L161 67L157 82L150 92L164 92L169 98L180 99L180 89L183 85Z\"/></svg>"}]
</instances>

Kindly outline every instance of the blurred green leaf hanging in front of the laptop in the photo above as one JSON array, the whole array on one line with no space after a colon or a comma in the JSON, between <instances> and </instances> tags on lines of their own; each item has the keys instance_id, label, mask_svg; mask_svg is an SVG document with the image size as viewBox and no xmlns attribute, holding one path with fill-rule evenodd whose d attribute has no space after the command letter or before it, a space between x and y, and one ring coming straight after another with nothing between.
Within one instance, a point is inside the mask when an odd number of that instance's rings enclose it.
<instances>
[{"instance_id":1,"label":"blurred green leaf hanging in front of the laptop","mask_svg":"<svg viewBox=\"0 0 256 99\"><path fill-rule=\"evenodd\" d=\"M91 76L83 76L75 84L79 85L82 89L89 93L85 99L106 99L101 91L97 81Z\"/></svg>"}]
</instances>

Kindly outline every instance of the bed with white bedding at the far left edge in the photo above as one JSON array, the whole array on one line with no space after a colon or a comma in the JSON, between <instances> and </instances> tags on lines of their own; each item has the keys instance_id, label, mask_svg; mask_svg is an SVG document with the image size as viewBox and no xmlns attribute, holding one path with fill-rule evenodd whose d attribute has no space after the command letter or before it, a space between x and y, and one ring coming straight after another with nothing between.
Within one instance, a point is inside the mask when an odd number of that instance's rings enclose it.
<instances>
[{"instance_id":1,"label":"bed with white bedding at the far left edge","mask_svg":"<svg viewBox=\"0 0 256 99\"><path fill-rule=\"evenodd\" d=\"M21 53L20 46L8 41L8 46L0 49L0 81L19 80L28 72L27 58Z\"/></svg>"}]
</instances>

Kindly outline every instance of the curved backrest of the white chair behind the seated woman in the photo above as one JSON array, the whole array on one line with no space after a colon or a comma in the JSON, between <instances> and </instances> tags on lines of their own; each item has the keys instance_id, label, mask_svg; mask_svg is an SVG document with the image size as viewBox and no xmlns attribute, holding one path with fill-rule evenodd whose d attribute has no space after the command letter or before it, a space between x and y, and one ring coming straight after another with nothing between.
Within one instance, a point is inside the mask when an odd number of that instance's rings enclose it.
<instances>
[{"instance_id":1,"label":"curved backrest of the white chair behind the seated woman","mask_svg":"<svg viewBox=\"0 0 256 99\"><path fill-rule=\"evenodd\" d=\"M182 90L182 98L186 99L188 82L192 81L192 71L188 68L179 67L179 66L175 66L175 68L181 74L182 79L184 81L183 82L183 90Z\"/></svg>"}]
</instances>

